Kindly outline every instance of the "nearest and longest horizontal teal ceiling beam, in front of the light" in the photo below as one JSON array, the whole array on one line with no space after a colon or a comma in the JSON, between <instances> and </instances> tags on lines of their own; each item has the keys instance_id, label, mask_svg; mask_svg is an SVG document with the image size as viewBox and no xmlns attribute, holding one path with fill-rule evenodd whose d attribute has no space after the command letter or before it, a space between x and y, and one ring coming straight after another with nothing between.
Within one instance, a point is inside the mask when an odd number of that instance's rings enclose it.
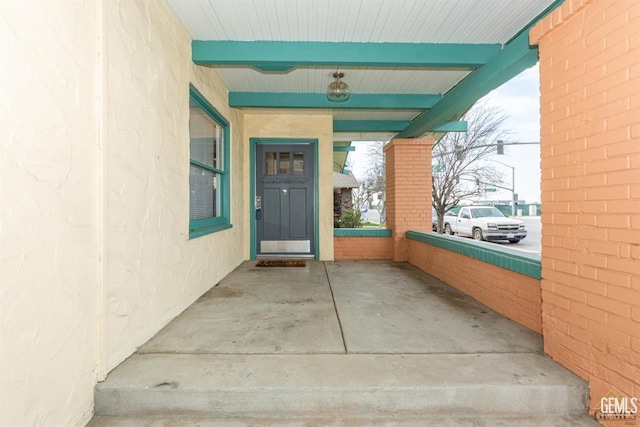
<instances>
[{"instance_id":1,"label":"nearest and longest horizontal teal ceiling beam, in front of the light","mask_svg":"<svg viewBox=\"0 0 640 427\"><path fill-rule=\"evenodd\" d=\"M191 58L198 65L266 72L311 66L470 69L486 64L500 49L499 44L194 40Z\"/></svg>"}]
</instances>

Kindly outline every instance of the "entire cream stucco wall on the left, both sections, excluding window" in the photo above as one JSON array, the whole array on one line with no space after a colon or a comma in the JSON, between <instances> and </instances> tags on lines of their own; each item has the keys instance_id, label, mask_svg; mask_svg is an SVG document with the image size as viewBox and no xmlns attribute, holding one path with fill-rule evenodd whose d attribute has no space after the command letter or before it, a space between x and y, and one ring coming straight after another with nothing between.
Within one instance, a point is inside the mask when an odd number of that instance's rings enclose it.
<instances>
[{"instance_id":1,"label":"entire cream stucco wall on the left, both sections, excluding window","mask_svg":"<svg viewBox=\"0 0 640 427\"><path fill-rule=\"evenodd\" d=\"M188 239L189 83L242 116L163 1L0 1L0 425L84 425L93 387L245 257Z\"/></svg>"}]
</instances>

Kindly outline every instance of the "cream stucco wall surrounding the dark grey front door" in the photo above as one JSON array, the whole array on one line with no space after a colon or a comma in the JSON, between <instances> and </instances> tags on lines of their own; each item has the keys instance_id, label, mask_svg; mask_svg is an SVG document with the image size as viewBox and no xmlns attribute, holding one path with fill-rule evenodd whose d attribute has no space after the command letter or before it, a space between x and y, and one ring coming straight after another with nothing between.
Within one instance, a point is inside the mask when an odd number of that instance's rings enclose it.
<instances>
[{"instance_id":1,"label":"cream stucco wall surrounding the dark grey front door","mask_svg":"<svg viewBox=\"0 0 640 427\"><path fill-rule=\"evenodd\" d=\"M318 217L321 260L333 260L333 116L326 112L245 114L244 145L250 138L308 138L318 140ZM245 161L249 168L249 159ZM247 169L248 170L248 169ZM245 199L249 200L249 174L245 175ZM246 211L248 212L247 206ZM249 223L245 233L249 236ZM247 254L249 241L247 239Z\"/></svg>"}]
</instances>

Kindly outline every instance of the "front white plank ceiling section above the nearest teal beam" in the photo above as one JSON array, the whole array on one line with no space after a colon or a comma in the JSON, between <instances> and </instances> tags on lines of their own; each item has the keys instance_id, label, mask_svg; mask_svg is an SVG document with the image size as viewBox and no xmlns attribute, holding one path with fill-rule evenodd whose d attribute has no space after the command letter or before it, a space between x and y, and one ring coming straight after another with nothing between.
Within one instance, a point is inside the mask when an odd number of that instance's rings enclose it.
<instances>
[{"instance_id":1,"label":"front white plank ceiling section above the nearest teal beam","mask_svg":"<svg viewBox=\"0 0 640 427\"><path fill-rule=\"evenodd\" d=\"M194 40L506 43L550 0L168 0Z\"/></svg>"}]
</instances>

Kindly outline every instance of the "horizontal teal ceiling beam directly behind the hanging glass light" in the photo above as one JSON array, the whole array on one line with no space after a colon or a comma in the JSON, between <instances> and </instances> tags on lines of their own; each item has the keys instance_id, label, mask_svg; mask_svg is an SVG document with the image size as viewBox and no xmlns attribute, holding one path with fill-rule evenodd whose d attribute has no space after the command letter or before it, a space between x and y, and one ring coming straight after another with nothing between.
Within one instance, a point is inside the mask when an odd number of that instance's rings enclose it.
<instances>
[{"instance_id":1,"label":"horizontal teal ceiling beam directly behind the hanging glass light","mask_svg":"<svg viewBox=\"0 0 640 427\"><path fill-rule=\"evenodd\" d=\"M331 102L324 93L230 92L233 108L322 108L426 110L442 99L440 95L357 94L345 102Z\"/></svg>"}]
</instances>

